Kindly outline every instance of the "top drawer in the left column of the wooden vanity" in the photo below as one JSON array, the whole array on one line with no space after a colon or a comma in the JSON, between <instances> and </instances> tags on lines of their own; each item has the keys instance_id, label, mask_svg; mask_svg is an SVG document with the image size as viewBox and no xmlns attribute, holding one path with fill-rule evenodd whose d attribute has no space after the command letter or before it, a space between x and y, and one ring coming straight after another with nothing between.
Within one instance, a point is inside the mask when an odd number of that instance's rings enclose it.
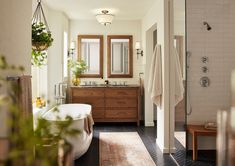
<instances>
[{"instance_id":1,"label":"top drawer in the left column of the wooden vanity","mask_svg":"<svg viewBox=\"0 0 235 166\"><path fill-rule=\"evenodd\" d=\"M86 89L73 89L73 97L104 97L103 89L86 88Z\"/></svg>"}]
</instances>

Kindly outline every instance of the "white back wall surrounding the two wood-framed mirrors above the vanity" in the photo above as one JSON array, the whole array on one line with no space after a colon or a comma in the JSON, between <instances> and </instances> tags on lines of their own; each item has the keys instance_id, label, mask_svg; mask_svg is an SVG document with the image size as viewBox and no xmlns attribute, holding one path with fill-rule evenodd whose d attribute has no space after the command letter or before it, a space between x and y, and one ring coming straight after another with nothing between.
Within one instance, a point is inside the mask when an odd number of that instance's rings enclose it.
<instances>
[{"instance_id":1,"label":"white back wall surrounding the two wood-framed mirrors above the vanity","mask_svg":"<svg viewBox=\"0 0 235 166\"><path fill-rule=\"evenodd\" d=\"M135 42L141 41L141 22L139 20L115 20L109 26L103 26L96 20L71 20L70 21L70 39L76 41L77 35L103 35L104 37L104 59L103 71L104 79L100 78L83 78L84 80L97 81L104 83L107 79L107 35L133 35L133 49ZM77 50L75 51L77 55ZM143 72L143 57L139 56L137 60L136 50L133 50L133 78L108 78L110 81L127 81L128 84L139 84L139 73Z\"/></svg>"}]
</instances>

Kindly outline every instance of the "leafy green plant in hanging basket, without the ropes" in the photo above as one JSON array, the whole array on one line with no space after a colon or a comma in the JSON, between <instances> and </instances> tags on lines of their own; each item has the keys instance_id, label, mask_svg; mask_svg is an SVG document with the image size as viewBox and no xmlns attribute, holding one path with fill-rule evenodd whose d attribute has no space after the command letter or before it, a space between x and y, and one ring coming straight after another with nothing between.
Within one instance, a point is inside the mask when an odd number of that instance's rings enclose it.
<instances>
[{"instance_id":1,"label":"leafy green plant in hanging basket, without the ropes","mask_svg":"<svg viewBox=\"0 0 235 166\"><path fill-rule=\"evenodd\" d=\"M32 46L34 50L45 50L52 45L52 42L51 32L47 31L44 23L32 24Z\"/></svg>"}]
</instances>

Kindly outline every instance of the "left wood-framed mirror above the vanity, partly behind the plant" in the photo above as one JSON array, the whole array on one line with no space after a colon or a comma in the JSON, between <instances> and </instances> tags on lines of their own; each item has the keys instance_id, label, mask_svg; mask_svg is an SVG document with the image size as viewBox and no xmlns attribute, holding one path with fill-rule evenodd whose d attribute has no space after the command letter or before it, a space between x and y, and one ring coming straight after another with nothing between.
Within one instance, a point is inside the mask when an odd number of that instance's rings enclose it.
<instances>
[{"instance_id":1,"label":"left wood-framed mirror above the vanity, partly behind the plant","mask_svg":"<svg viewBox=\"0 0 235 166\"><path fill-rule=\"evenodd\" d=\"M103 45L102 35L78 35L78 59L87 65L81 78L103 78Z\"/></svg>"}]
</instances>

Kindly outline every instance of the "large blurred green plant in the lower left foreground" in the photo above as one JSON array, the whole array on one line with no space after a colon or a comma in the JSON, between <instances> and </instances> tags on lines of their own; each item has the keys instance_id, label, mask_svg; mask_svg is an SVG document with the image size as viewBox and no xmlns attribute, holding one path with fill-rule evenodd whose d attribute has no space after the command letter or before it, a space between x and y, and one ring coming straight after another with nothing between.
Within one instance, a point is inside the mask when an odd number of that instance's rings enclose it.
<instances>
[{"instance_id":1,"label":"large blurred green plant in the lower left foreground","mask_svg":"<svg viewBox=\"0 0 235 166\"><path fill-rule=\"evenodd\" d=\"M16 67L9 65L4 56L0 56L0 72L8 72L9 70L24 71L22 66ZM58 160L58 149L63 148L69 152L72 149L68 143L67 137L75 136L80 131L70 128L73 119L67 116L65 120L57 120L53 122L39 118L36 128L33 128L33 115L23 116L22 107L20 107L17 96L21 93L19 84L16 81L7 81L6 78L0 76L0 90L7 89L7 93L0 94L0 107L7 108L8 117L7 124L11 132L9 133L10 152L6 165L37 165L51 166L63 165ZM58 111L57 107L53 109ZM0 110L2 111L2 110ZM56 127L55 132L51 132L51 128ZM47 145L47 146L45 146ZM60 163L59 163L60 162Z\"/></svg>"}]
</instances>

